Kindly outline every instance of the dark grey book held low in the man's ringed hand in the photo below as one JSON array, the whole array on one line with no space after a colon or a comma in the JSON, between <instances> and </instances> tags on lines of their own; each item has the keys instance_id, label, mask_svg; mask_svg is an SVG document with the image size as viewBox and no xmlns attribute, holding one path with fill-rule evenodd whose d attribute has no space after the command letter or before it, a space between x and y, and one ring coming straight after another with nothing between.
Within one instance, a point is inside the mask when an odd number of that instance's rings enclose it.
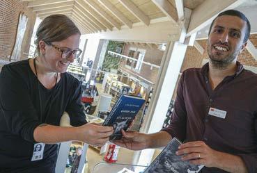
<instances>
[{"instance_id":1,"label":"dark grey book held low in the man's ringed hand","mask_svg":"<svg viewBox=\"0 0 257 173\"><path fill-rule=\"evenodd\" d=\"M162 152L153 160L153 163L146 168L143 173L197 173L203 165L193 165L188 160L181 160L176 151L181 145L177 138L172 138L171 142L162 150Z\"/></svg>"}]
</instances>

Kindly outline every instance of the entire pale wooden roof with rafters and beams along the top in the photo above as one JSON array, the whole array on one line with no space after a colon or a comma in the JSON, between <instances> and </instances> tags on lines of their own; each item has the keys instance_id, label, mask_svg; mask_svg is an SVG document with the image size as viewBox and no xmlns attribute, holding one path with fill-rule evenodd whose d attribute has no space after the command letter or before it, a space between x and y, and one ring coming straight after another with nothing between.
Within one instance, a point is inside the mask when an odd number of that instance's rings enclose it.
<instances>
[{"instance_id":1,"label":"entire pale wooden roof with rafters and beams along the top","mask_svg":"<svg viewBox=\"0 0 257 173\"><path fill-rule=\"evenodd\" d=\"M254 21L256 0L20 0L40 19L52 14L68 15L82 34L120 31L151 22L169 21L179 25L189 9L191 18L187 36L201 31L196 38L206 38L208 24L222 10L237 8ZM256 22L253 33L257 33Z\"/></svg>"}]
</instances>

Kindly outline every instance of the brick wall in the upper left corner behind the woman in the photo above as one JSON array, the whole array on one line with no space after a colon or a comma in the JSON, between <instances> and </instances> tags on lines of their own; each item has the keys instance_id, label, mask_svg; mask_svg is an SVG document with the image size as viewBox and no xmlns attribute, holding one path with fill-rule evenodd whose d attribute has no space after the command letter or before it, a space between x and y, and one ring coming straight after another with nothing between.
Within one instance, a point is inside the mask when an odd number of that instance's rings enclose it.
<instances>
[{"instance_id":1,"label":"brick wall in the upper left corner behind the woman","mask_svg":"<svg viewBox=\"0 0 257 173\"><path fill-rule=\"evenodd\" d=\"M2 60L8 60L8 56L10 56L13 50L19 14L21 12L29 17L22 42L22 52L29 53L36 13L26 8L26 3L21 3L18 0L0 0L0 59ZM26 55L22 54L20 59L24 58L26 58Z\"/></svg>"}]
</instances>

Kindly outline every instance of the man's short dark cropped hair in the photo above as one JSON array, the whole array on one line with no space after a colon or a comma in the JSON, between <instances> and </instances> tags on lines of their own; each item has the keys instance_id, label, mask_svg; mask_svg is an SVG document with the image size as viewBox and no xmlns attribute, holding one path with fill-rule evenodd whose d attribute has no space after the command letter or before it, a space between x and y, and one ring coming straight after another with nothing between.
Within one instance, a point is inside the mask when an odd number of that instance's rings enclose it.
<instances>
[{"instance_id":1,"label":"man's short dark cropped hair","mask_svg":"<svg viewBox=\"0 0 257 173\"><path fill-rule=\"evenodd\" d=\"M237 11L237 10L226 10L222 13L219 13L219 15L215 19L212 20L212 24L210 24L210 30L209 30L208 35L210 35L210 31L212 30L212 25L214 24L215 20L222 15L237 16L237 17L240 17L240 19L244 20L244 22L247 22L247 31L244 35L244 42L247 42L247 40L250 36L250 32L251 32L251 24L250 24L249 20L247 19L247 17L245 17L245 15L243 13L241 13L240 11Z\"/></svg>"}]
</instances>

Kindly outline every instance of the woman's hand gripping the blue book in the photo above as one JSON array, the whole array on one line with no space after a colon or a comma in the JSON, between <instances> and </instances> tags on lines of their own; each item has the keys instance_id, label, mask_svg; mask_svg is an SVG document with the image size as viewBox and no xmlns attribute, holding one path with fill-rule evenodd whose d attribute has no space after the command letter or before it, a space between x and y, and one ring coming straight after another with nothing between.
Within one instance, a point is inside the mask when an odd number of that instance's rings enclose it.
<instances>
[{"instance_id":1,"label":"woman's hand gripping the blue book","mask_svg":"<svg viewBox=\"0 0 257 173\"><path fill-rule=\"evenodd\" d=\"M95 123L87 123L77 127L77 132L77 140L102 147L102 145L109 140L109 136L114 133L114 129L112 126L100 126Z\"/></svg>"}]
</instances>

